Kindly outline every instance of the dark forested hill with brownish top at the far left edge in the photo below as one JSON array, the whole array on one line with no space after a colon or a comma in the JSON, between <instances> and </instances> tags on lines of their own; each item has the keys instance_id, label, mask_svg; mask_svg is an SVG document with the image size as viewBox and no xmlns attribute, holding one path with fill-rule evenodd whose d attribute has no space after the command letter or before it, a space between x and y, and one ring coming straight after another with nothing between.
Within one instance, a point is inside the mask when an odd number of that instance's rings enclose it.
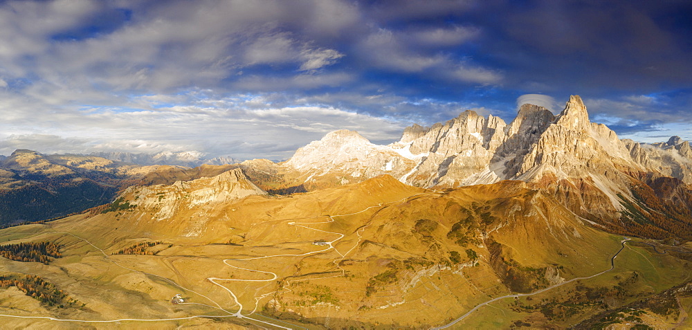
<instances>
[{"instance_id":1,"label":"dark forested hill with brownish top at the far left edge","mask_svg":"<svg viewBox=\"0 0 692 330\"><path fill-rule=\"evenodd\" d=\"M17 150L0 163L0 224L44 220L108 203L129 167L93 156Z\"/></svg>"}]
</instances>

